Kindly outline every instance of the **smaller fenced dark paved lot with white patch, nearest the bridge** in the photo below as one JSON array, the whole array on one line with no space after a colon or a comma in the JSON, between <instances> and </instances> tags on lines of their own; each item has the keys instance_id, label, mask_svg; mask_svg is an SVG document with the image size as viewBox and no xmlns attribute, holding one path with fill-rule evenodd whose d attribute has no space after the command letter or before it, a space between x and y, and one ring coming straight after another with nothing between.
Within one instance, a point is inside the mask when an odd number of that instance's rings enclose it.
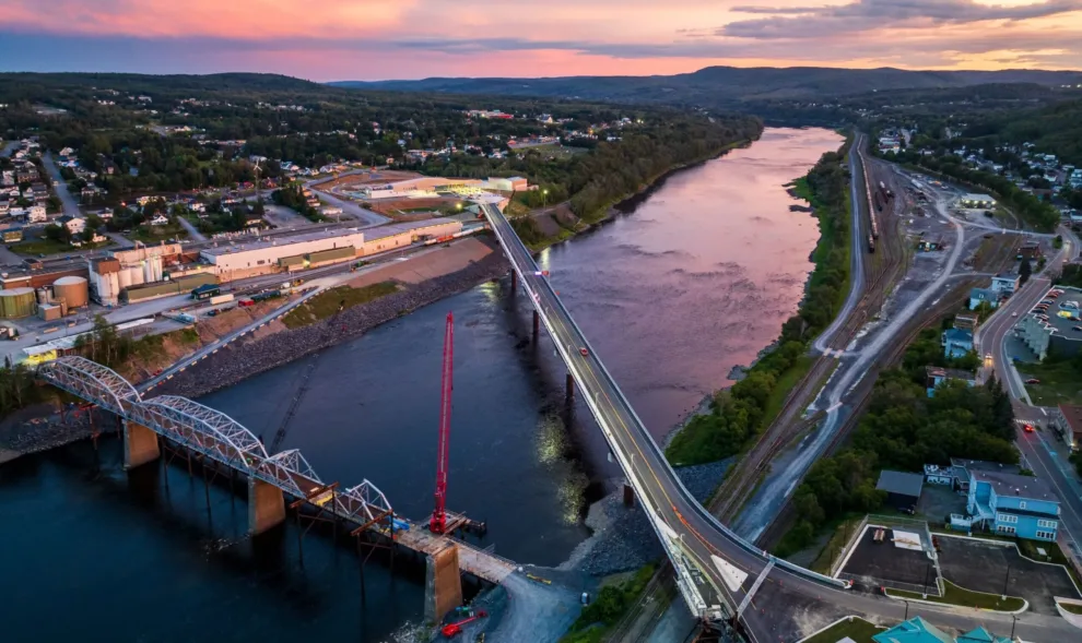
<instances>
[{"instance_id":1,"label":"smaller fenced dark paved lot with white patch, nearest the bridge","mask_svg":"<svg viewBox=\"0 0 1082 643\"><path fill-rule=\"evenodd\" d=\"M927 587L938 593L931 559L924 551L896 547L891 541L892 532L887 528L883 541L875 543L875 527L869 525L842 568L844 577L910 592L922 592L927 582Z\"/></svg>"}]
</instances>

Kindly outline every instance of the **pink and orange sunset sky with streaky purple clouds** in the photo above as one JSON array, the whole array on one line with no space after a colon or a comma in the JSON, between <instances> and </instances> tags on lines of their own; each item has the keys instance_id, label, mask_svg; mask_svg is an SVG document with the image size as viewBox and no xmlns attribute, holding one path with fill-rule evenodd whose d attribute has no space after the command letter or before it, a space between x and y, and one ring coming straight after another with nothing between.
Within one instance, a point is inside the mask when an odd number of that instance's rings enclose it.
<instances>
[{"instance_id":1,"label":"pink and orange sunset sky with streaky purple clouds","mask_svg":"<svg viewBox=\"0 0 1082 643\"><path fill-rule=\"evenodd\" d=\"M0 0L0 70L310 79L1082 69L1082 0Z\"/></svg>"}]
</instances>

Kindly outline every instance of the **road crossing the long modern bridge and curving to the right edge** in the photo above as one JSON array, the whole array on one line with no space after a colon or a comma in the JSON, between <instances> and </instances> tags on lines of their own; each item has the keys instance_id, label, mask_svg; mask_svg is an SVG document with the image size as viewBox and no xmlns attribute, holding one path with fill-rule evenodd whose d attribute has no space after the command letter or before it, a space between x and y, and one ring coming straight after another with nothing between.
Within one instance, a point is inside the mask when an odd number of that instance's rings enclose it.
<instances>
[{"instance_id":1,"label":"road crossing the long modern bridge and curving to the right edge","mask_svg":"<svg viewBox=\"0 0 1082 643\"><path fill-rule=\"evenodd\" d=\"M654 438L635 415L510 224L498 210L489 205L482 207L571 371L576 394L584 397L597 418L613 454L635 489L636 498L650 515L659 539L669 550L670 558L675 559L673 562L678 571L681 565L686 568L690 563L709 582L709 588L696 585L707 605L719 598L733 610L750 593L754 594L756 581L763 574L765 583L760 586L762 599L752 600L741 619L748 639L753 643L777 641L778 623L793 618L787 610L797 609L799 605L822 604L835 612L840 610L843 614L901 620L905 609L902 603L842 588L837 581L774 559L748 545L711 516L687 492L668 465ZM682 584L681 590L686 598L687 585ZM999 623L998 629L1003 630L1011 624L1009 616L974 610L910 606L909 611L958 628ZM1023 615L1018 627L1027 640L1037 642L1065 641L1078 633L1063 619L1039 615Z\"/></svg>"}]
</instances>

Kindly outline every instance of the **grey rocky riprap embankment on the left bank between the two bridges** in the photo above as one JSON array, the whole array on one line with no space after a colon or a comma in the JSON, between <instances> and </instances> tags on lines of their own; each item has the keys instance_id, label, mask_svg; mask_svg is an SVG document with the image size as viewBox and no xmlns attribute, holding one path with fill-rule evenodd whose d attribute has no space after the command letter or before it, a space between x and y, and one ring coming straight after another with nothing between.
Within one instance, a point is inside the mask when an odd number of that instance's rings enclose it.
<instances>
[{"instance_id":1,"label":"grey rocky riprap embankment on the left bank between the two bridges","mask_svg":"<svg viewBox=\"0 0 1082 643\"><path fill-rule=\"evenodd\" d=\"M456 273L408 285L398 293L349 308L334 318L334 328L330 328L329 320L322 320L299 329L279 331L259 340L231 344L155 389L155 393L199 397L232 386L309 353L362 335L422 306L498 278L507 274L508 270L510 264L503 254L493 252Z\"/></svg>"}]
</instances>

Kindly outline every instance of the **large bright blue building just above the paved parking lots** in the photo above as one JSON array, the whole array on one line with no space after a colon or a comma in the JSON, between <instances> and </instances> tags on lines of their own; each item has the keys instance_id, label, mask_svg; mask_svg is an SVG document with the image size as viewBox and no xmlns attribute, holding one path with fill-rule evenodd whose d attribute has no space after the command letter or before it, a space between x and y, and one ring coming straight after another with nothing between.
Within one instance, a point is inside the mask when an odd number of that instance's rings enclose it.
<instances>
[{"instance_id":1,"label":"large bright blue building just above the paved parking lots","mask_svg":"<svg viewBox=\"0 0 1082 643\"><path fill-rule=\"evenodd\" d=\"M966 511L973 526L1007 536L1052 541L1059 528L1059 499L1034 476L971 472Z\"/></svg>"}]
</instances>

